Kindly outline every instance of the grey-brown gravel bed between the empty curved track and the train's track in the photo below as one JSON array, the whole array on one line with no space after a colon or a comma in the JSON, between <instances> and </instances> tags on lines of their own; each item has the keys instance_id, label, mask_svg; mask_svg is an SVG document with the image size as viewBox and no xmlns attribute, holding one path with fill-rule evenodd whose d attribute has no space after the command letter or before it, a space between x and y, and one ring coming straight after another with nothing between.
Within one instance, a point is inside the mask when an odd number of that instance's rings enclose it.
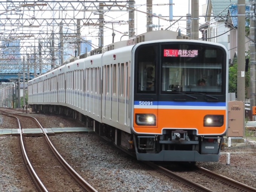
<instances>
[{"instance_id":1,"label":"grey-brown gravel bed between the empty curved track and the train's track","mask_svg":"<svg viewBox=\"0 0 256 192\"><path fill-rule=\"evenodd\" d=\"M62 157L101 192L192 191L171 182L96 135L61 134L50 139Z\"/></svg>"}]
</instances>

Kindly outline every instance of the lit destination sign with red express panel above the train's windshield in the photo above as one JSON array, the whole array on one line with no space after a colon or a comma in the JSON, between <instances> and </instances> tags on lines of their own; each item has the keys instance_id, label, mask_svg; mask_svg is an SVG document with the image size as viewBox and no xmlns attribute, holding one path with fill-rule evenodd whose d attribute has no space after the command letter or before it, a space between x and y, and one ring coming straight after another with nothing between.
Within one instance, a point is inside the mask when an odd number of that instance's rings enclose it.
<instances>
[{"instance_id":1,"label":"lit destination sign with red express panel above the train's windshield","mask_svg":"<svg viewBox=\"0 0 256 192\"><path fill-rule=\"evenodd\" d=\"M164 49L163 56L165 57L195 57L198 55L198 50L178 50L178 49Z\"/></svg>"}]
</instances>

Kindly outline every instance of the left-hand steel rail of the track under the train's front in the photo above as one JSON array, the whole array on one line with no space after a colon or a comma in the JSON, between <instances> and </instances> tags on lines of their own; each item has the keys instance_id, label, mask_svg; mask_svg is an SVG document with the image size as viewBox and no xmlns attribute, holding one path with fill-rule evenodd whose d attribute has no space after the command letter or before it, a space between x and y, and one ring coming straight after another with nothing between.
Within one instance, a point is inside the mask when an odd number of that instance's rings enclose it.
<instances>
[{"instance_id":1,"label":"left-hand steel rail of the track under the train's front","mask_svg":"<svg viewBox=\"0 0 256 192\"><path fill-rule=\"evenodd\" d=\"M204 186L202 186L202 185L200 185L198 183L195 183L194 181L188 180L185 177L182 177L182 176L180 176L178 174L175 174L174 172L172 172L172 171L170 171L170 170L168 170L166 168L163 168L162 166L156 165L156 164L154 164L152 162L144 162L144 163L146 165L148 165L148 166L150 166L150 167L152 167L152 168L162 172L163 174L168 175L169 177L172 177L172 178L174 178L174 179L176 179L178 181L181 181L182 183L184 183L184 184L186 184L186 185L188 185L188 186L190 186L190 187L192 187L192 188L194 188L196 190L199 190L201 192L213 192L212 190L210 190L210 189L208 189L208 188L206 188L206 187L204 187Z\"/></svg>"}]
</instances>

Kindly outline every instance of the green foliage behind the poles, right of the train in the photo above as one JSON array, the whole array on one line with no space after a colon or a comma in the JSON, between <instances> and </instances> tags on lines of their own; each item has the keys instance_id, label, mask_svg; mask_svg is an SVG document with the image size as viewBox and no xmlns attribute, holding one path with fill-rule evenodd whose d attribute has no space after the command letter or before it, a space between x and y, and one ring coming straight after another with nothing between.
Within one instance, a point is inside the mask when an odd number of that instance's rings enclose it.
<instances>
[{"instance_id":1,"label":"green foliage behind the poles, right of the train","mask_svg":"<svg viewBox=\"0 0 256 192\"><path fill-rule=\"evenodd\" d=\"M250 51L245 54L245 59L250 61ZM250 67L248 72L245 72L245 87L250 87ZM229 66L229 93L236 93L237 96L237 58L233 59L233 65ZM245 97L247 97L247 90L245 90Z\"/></svg>"}]
</instances>

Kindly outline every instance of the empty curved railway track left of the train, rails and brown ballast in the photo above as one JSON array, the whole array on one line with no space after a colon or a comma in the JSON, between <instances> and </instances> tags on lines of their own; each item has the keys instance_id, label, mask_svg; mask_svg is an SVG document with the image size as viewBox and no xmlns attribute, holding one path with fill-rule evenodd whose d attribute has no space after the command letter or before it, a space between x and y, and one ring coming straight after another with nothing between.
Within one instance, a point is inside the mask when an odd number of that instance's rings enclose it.
<instances>
[{"instance_id":1,"label":"empty curved railway track left of the train, rails and brown ballast","mask_svg":"<svg viewBox=\"0 0 256 192\"><path fill-rule=\"evenodd\" d=\"M6 113L6 111L3 112ZM37 119L19 114L4 115L17 120L23 162L38 192L97 191L61 157ZM27 128L27 125L30 128L40 128L43 137L23 137L21 129Z\"/></svg>"}]
</instances>

